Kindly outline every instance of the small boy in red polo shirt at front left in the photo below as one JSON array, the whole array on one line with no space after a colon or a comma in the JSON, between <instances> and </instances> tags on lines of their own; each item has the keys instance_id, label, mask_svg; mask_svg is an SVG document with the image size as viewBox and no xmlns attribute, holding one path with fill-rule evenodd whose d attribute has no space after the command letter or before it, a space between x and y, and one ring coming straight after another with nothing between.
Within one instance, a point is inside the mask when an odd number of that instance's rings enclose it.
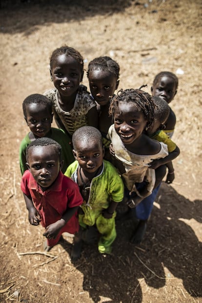
<instances>
[{"instance_id":1,"label":"small boy in red polo shirt at front left","mask_svg":"<svg viewBox=\"0 0 202 303\"><path fill-rule=\"evenodd\" d=\"M29 222L45 227L44 249L49 251L63 232L79 230L78 207L82 204L78 185L61 172L61 145L50 138L32 141L27 147L28 170L22 176Z\"/></svg>"}]
</instances>

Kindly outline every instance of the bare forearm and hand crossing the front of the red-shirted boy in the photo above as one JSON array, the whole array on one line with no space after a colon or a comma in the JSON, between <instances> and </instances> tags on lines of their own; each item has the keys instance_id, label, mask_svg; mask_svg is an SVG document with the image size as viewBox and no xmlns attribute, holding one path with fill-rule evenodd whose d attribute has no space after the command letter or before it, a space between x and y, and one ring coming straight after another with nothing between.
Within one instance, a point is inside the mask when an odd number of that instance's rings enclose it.
<instances>
[{"instance_id":1,"label":"bare forearm and hand crossing the front of the red-shirted boy","mask_svg":"<svg viewBox=\"0 0 202 303\"><path fill-rule=\"evenodd\" d=\"M45 236L48 239L51 238L55 239L61 228L72 218L72 216L75 214L78 208L79 206L67 207L65 213L63 214L60 220L46 227L43 236Z\"/></svg>"}]
</instances>

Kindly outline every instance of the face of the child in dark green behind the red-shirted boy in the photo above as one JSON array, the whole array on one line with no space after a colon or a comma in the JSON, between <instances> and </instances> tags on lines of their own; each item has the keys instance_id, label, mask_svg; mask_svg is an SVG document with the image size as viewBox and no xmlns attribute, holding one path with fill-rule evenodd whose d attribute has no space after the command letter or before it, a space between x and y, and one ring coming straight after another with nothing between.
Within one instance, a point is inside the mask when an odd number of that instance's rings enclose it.
<instances>
[{"instance_id":1,"label":"face of the child in dark green behind the red-shirted boy","mask_svg":"<svg viewBox=\"0 0 202 303\"><path fill-rule=\"evenodd\" d=\"M36 138L45 137L51 129L53 114L44 104L32 103L26 107L27 125Z\"/></svg>"}]
</instances>

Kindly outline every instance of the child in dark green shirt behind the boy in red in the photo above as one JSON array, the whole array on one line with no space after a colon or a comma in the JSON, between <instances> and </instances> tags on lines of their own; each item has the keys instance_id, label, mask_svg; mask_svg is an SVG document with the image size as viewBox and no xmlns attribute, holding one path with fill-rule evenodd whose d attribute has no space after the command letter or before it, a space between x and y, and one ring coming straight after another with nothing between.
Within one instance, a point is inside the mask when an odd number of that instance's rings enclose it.
<instances>
[{"instance_id":1,"label":"child in dark green shirt behind the boy in red","mask_svg":"<svg viewBox=\"0 0 202 303\"><path fill-rule=\"evenodd\" d=\"M48 137L58 142L62 148L63 166L61 168L64 173L69 164L74 162L70 138L61 129L51 127L53 121L52 103L47 97L40 94L32 94L25 98L22 103L24 119L29 126L30 132L24 137L20 143L20 171L21 175L28 169L26 165L26 148L32 141Z\"/></svg>"}]
</instances>

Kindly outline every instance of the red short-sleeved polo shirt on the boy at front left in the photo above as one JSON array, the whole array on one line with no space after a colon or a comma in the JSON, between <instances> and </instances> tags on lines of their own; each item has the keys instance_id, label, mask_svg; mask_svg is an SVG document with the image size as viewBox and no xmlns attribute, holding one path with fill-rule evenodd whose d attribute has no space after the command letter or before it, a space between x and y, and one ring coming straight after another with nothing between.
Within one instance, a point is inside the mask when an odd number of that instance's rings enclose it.
<instances>
[{"instance_id":1,"label":"red short-sleeved polo shirt on the boy at front left","mask_svg":"<svg viewBox=\"0 0 202 303\"><path fill-rule=\"evenodd\" d=\"M79 206L83 202L78 185L64 176L61 171L52 186L42 191L29 170L26 170L22 176L21 190L26 196L32 197L43 227L60 220L67 207ZM63 232L74 234L78 230L79 222L76 213L61 229L56 239L47 239L48 245L55 245Z\"/></svg>"}]
</instances>

